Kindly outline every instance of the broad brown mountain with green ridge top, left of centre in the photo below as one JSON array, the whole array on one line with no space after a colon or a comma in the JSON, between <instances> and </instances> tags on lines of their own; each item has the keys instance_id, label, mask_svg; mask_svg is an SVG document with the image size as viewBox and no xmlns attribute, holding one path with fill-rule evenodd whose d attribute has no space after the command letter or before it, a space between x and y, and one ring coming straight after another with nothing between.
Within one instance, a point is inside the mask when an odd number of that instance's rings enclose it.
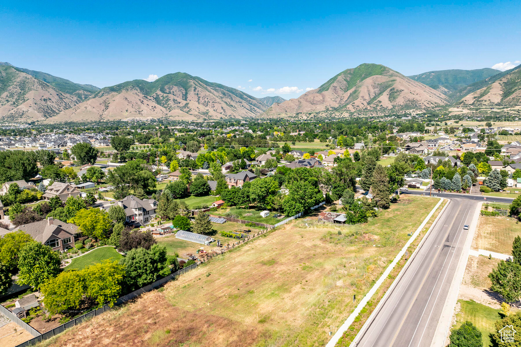
<instances>
[{"instance_id":1,"label":"broad brown mountain with green ridge top, left of centre","mask_svg":"<svg viewBox=\"0 0 521 347\"><path fill-rule=\"evenodd\" d=\"M238 89L186 73L172 73L154 82L134 80L95 93L91 99L48 122L129 118L205 120L256 117L268 106Z\"/></svg>"}]
</instances>

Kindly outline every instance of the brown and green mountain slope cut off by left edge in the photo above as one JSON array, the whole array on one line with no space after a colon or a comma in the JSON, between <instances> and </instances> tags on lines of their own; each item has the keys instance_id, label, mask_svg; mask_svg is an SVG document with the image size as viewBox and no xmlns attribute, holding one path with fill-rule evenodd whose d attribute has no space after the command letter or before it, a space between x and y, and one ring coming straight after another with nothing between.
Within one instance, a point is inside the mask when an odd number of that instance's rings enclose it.
<instances>
[{"instance_id":1,"label":"brown and green mountain slope cut off by left edge","mask_svg":"<svg viewBox=\"0 0 521 347\"><path fill-rule=\"evenodd\" d=\"M33 122L52 117L80 100L18 71L0 66L0 120Z\"/></svg>"}]
</instances>

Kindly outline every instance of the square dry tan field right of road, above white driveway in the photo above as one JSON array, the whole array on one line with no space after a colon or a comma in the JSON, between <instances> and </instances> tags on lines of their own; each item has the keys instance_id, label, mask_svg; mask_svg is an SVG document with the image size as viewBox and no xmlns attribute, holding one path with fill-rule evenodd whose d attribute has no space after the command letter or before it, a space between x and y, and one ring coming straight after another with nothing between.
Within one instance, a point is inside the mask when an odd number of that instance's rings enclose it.
<instances>
[{"instance_id":1,"label":"square dry tan field right of road, above white driveway","mask_svg":"<svg viewBox=\"0 0 521 347\"><path fill-rule=\"evenodd\" d=\"M480 215L472 248L511 255L516 236L521 236L521 224L513 218Z\"/></svg>"}]
</instances>

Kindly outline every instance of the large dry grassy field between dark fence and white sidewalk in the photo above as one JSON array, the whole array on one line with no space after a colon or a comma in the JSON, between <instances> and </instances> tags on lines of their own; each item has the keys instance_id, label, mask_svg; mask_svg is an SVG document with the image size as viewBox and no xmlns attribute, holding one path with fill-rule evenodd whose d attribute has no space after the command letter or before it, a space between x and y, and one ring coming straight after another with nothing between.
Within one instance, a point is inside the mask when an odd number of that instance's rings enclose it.
<instances>
[{"instance_id":1,"label":"large dry grassy field between dark fence and white sidewalk","mask_svg":"<svg viewBox=\"0 0 521 347\"><path fill-rule=\"evenodd\" d=\"M51 344L324 345L437 202L404 196L364 225L296 220Z\"/></svg>"}]
</instances>

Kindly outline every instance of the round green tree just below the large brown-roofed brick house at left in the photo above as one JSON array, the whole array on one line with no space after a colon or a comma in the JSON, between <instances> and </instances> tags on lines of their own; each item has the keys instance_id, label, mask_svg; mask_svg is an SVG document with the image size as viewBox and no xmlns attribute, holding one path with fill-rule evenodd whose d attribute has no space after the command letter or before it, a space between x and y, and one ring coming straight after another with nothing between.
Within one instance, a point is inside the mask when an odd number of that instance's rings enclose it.
<instances>
[{"instance_id":1,"label":"round green tree just below the large brown-roofed brick house at left","mask_svg":"<svg viewBox=\"0 0 521 347\"><path fill-rule=\"evenodd\" d=\"M27 242L21 249L18 260L18 282L39 289L60 271L60 256L51 247L38 241Z\"/></svg>"}]
</instances>

